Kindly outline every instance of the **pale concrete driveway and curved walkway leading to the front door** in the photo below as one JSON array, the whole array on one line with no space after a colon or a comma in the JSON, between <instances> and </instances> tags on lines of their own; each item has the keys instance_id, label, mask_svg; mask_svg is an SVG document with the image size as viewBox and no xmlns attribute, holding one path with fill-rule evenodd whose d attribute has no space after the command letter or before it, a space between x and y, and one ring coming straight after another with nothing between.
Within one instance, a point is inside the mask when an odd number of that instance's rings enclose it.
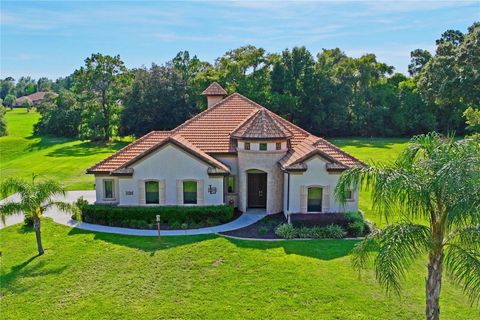
<instances>
[{"instance_id":1,"label":"pale concrete driveway and curved walkway leading to the front door","mask_svg":"<svg viewBox=\"0 0 480 320\"><path fill-rule=\"evenodd\" d=\"M65 197L60 197L57 200L65 201L65 202L74 202L79 197L83 196L85 200L90 203L95 201L95 191L94 190L86 190L86 191L68 191ZM3 203L6 200L17 200L18 195L14 194L11 195L4 200L0 200L0 203ZM78 221L73 220L70 218L69 214L65 214L63 212L59 212L56 209L49 210L45 213L46 217L52 218L53 221L59 224L63 224L65 226L78 228L82 230L88 231L95 231L95 232L106 232L106 233L116 233L116 234L124 234L124 235L133 235L133 236L157 236L157 230L142 230L142 229L130 229L130 228L120 228L120 227L109 227L109 226L102 226L98 224L91 224L86 222L78 223ZM199 228L199 229L187 229L187 230L162 230L160 235L162 236L185 236L185 235L198 235L198 234L210 234L210 233L219 233L219 232L226 232L232 231L236 229L241 229L247 227L255 222L259 221L265 217L264 211L249 211L247 213L242 214L236 220L231 221L226 224L222 224L215 227L208 227L208 228ZM23 222L23 214L18 214L14 216L9 216L6 219L6 224L3 225L0 222L0 229L10 226L13 224Z\"/></svg>"}]
</instances>

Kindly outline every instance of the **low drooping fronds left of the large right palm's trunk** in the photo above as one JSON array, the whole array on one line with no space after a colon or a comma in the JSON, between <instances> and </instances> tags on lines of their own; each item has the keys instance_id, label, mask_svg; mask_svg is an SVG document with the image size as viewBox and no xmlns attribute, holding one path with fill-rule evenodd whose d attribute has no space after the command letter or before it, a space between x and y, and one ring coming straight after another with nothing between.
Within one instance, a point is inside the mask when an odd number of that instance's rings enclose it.
<instances>
[{"instance_id":1,"label":"low drooping fronds left of the large right palm's trunk","mask_svg":"<svg viewBox=\"0 0 480 320\"><path fill-rule=\"evenodd\" d=\"M412 223L389 225L357 244L353 264L363 267L377 249L374 259L375 277L388 291L399 292L401 280L411 263L431 246L430 229Z\"/></svg>"}]
</instances>

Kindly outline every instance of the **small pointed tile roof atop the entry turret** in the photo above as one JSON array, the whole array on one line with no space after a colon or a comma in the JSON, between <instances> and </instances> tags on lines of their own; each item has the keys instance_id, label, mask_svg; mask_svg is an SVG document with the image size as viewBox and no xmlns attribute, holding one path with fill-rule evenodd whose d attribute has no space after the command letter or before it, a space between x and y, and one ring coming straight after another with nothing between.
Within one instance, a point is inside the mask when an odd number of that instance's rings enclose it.
<instances>
[{"instance_id":1,"label":"small pointed tile roof atop the entry turret","mask_svg":"<svg viewBox=\"0 0 480 320\"><path fill-rule=\"evenodd\" d=\"M261 108L231 136L240 139L288 139L292 133L283 123L273 119L267 109Z\"/></svg>"}]
</instances>

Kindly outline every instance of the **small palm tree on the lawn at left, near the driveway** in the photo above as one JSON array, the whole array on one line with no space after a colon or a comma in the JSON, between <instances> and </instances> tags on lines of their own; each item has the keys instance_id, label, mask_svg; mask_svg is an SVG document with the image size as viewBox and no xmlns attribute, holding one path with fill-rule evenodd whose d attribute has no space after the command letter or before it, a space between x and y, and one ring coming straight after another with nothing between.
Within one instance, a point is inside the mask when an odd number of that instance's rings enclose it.
<instances>
[{"instance_id":1,"label":"small palm tree on the lawn at left, near the driveway","mask_svg":"<svg viewBox=\"0 0 480 320\"><path fill-rule=\"evenodd\" d=\"M0 218L5 223L5 217L23 213L27 219L33 221L35 235L37 238L38 254L44 253L40 233L40 219L49 208L56 207L61 211L73 213L79 216L79 210L74 204L54 200L55 196L64 196L65 189L54 180L35 182L36 175L33 175L32 182L20 178L8 178L0 184L2 195L18 192L20 201L6 201L0 205Z\"/></svg>"}]
</instances>

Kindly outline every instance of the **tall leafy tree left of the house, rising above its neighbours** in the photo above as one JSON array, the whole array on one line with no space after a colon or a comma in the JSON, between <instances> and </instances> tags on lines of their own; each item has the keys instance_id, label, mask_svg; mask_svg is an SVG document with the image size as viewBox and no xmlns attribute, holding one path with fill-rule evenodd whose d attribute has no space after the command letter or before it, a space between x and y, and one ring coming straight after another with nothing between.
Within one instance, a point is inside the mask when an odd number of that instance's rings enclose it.
<instances>
[{"instance_id":1,"label":"tall leafy tree left of the house, rising above its neighbours","mask_svg":"<svg viewBox=\"0 0 480 320\"><path fill-rule=\"evenodd\" d=\"M74 77L75 91L86 111L82 134L91 139L111 139L117 133L121 101L131 83L123 61L118 55L92 54Z\"/></svg>"}]
</instances>

